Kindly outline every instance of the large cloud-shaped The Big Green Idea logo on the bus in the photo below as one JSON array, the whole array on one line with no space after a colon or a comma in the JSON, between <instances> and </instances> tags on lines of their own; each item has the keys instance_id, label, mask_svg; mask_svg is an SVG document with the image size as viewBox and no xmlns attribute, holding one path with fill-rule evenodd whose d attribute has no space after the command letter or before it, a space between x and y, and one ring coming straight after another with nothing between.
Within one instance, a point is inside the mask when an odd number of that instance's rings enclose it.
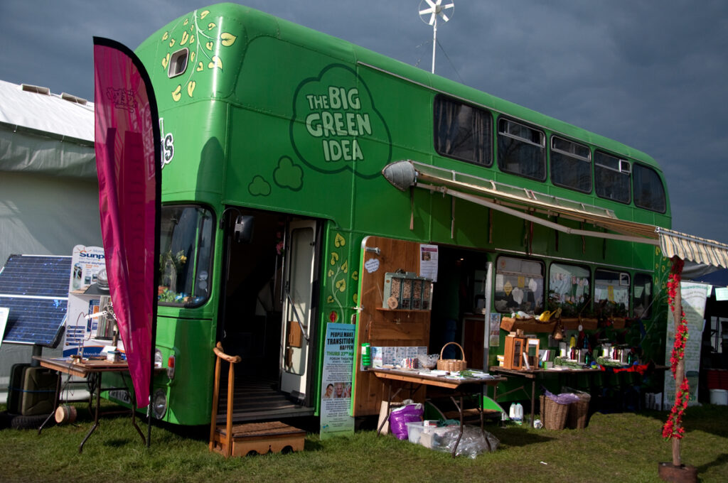
<instances>
[{"instance_id":1,"label":"large cloud-shaped The Big Green Idea logo on the bus","mask_svg":"<svg viewBox=\"0 0 728 483\"><path fill-rule=\"evenodd\" d=\"M298 84L290 121L293 150L319 172L379 176L392 157L389 128L368 87L346 65L332 64Z\"/></svg>"}]
</instances>

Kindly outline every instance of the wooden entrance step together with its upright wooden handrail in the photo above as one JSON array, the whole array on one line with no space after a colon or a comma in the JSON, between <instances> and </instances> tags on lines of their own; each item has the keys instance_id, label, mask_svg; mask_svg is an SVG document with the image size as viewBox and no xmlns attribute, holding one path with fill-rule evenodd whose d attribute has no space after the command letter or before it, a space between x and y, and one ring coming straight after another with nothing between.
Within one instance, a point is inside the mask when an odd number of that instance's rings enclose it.
<instances>
[{"instance_id":1,"label":"wooden entrance step together with its upright wooden handrail","mask_svg":"<svg viewBox=\"0 0 728 483\"><path fill-rule=\"evenodd\" d=\"M232 399L234 394L234 364L240 362L240 356L229 356L223 352L221 343L213 348L215 352L215 387L213 389L213 414L210 421L210 451L215 451L229 458L246 456L251 452L261 455L269 451L290 452L304 450L306 431L293 428L280 421L269 423L245 423L232 425ZM228 371L227 415L224 426L218 426L218 399L220 397L220 365L221 359L230 363Z\"/></svg>"}]
</instances>

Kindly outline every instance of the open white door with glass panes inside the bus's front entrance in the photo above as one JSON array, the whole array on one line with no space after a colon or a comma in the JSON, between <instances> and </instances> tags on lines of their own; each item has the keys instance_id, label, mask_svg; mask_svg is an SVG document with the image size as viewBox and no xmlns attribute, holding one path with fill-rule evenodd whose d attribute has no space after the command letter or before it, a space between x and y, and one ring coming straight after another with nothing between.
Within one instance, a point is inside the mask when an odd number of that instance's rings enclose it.
<instances>
[{"instance_id":1,"label":"open white door with glass panes inside the bus's front entrance","mask_svg":"<svg viewBox=\"0 0 728 483\"><path fill-rule=\"evenodd\" d=\"M286 271L281 340L281 391L306 395L310 374L312 292L316 254L316 222L291 222L286 247Z\"/></svg>"}]
</instances>

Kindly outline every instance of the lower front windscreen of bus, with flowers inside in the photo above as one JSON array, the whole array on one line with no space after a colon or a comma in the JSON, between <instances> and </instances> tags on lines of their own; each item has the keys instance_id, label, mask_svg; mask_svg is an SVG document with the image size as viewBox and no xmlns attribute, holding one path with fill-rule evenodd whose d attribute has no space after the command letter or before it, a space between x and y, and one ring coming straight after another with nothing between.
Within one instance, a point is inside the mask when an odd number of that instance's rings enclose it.
<instances>
[{"instance_id":1,"label":"lower front windscreen of bus, with flowers inside","mask_svg":"<svg viewBox=\"0 0 728 483\"><path fill-rule=\"evenodd\" d=\"M159 303L199 306L210 296L213 215L195 206L162 207Z\"/></svg>"}]
</instances>

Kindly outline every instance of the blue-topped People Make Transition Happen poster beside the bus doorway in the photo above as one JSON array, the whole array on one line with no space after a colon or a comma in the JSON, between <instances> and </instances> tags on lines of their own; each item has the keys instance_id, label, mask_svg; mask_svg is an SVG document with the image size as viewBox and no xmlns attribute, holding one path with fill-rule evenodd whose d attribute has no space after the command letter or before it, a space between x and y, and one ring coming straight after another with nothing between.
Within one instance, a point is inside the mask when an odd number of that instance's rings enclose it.
<instances>
[{"instance_id":1,"label":"blue-topped People Make Transition Happen poster beside the bus doorway","mask_svg":"<svg viewBox=\"0 0 728 483\"><path fill-rule=\"evenodd\" d=\"M352 402L354 367L353 324L326 326L323 374L321 377L321 439L354 433Z\"/></svg>"}]
</instances>

